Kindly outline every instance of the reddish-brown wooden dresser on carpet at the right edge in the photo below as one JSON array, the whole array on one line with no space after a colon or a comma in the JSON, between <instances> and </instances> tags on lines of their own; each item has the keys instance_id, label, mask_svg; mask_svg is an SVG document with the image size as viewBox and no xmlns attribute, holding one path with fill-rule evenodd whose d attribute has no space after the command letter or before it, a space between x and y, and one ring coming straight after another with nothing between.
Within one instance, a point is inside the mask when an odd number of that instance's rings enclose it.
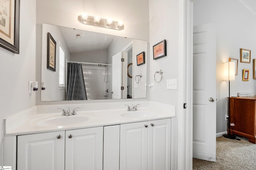
<instances>
[{"instance_id":1,"label":"reddish-brown wooden dresser on carpet at the right edge","mask_svg":"<svg viewBox=\"0 0 256 170\"><path fill-rule=\"evenodd\" d=\"M230 97L230 134L256 144L256 96ZM232 130L233 129L233 130Z\"/></svg>"}]
</instances>

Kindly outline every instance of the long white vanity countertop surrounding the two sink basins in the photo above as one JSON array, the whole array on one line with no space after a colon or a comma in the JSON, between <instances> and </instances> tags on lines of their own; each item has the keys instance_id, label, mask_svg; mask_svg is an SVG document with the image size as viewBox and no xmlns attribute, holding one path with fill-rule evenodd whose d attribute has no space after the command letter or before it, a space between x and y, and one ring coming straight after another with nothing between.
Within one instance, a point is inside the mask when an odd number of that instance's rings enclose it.
<instances>
[{"instance_id":1,"label":"long white vanity countertop surrounding the two sink basins","mask_svg":"<svg viewBox=\"0 0 256 170\"><path fill-rule=\"evenodd\" d=\"M59 107L59 106L56 106L56 107ZM154 114L146 117L122 116L123 113L136 114L136 113L141 113L143 111L154 112ZM34 112L34 109L31 109L29 112ZM7 117L6 119L4 119L4 129L5 129L4 135L5 136L25 135L25 134L32 134L32 133L64 131L64 130L71 130L71 129L82 129L82 128L88 128L88 127L99 127L99 126L117 125L117 124L132 123L132 122L139 122L139 121L166 119L166 118L175 117L175 107L170 105L162 105L162 104L160 104L160 106L157 106L156 104L152 105L152 103L150 103L150 104L144 105L144 107L138 106L138 112L127 111L127 109L99 109L99 110L90 110L90 111L77 111L76 113L77 113L76 115L70 115L70 116L61 116L61 113L33 114L33 113L28 113L28 111L26 111L26 113L23 112L20 114L15 114L11 117ZM24 119L24 117L26 117L26 119ZM69 119L70 117L79 117L79 118L87 117L88 120L82 123L69 124L69 125L63 125L63 126L40 124L40 121L44 121L45 119L49 119L49 118L52 119L52 117L58 117L61 119L63 118ZM15 122L17 122L17 124L15 124Z\"/></svg>"}]
</instances>

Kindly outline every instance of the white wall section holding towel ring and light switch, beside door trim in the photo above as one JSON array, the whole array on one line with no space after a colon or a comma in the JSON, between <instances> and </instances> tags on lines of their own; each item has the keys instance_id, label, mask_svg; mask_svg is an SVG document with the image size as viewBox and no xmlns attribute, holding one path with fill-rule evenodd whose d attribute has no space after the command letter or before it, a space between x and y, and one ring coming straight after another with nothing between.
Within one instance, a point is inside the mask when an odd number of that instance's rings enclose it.
<instances>
[{"instance_id":1,"label":"white wall section holding towel ring and light switch, beside door trim","mask_svg":"<svg viewBox=\"0 0 256 170\"><path fill-rule=\"evenodd\" d=\"M154 83L154 91L150 90L150 100L164 104L178 105L178 90L166 90L167 79L178 79L178 1L149 0L150 22L150 78L148 83ZM167 56L153 60L152 46L166 39ZM160 83L154 81L156 71L163 70ZM156 75L160 80L160 75ZM178 88L179 87L178 84Z\"/></svg>"}]
</instances>

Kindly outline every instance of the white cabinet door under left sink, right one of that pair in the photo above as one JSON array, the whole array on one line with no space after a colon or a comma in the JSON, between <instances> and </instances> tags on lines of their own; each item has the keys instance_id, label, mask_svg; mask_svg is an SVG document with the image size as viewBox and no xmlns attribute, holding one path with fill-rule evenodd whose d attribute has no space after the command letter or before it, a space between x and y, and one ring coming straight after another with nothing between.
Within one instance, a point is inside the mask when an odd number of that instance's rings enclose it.
<instances>
[{"instance_id":1,"label":"white cabinet door under left sink, right one of that pair","mask_svg":"<svg viewBox=\"0 0 256 170\"><path fill-rule=\"evenodd\" d=\"M66 131L66 170L102 170L103 127Z\"/></svg>"}]
</instances>

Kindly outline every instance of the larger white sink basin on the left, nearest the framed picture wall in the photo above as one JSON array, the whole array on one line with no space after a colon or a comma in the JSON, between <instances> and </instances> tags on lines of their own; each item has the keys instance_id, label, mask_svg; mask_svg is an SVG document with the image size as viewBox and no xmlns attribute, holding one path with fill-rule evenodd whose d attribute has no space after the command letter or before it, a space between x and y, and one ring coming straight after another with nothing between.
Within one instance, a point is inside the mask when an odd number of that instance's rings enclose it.
<instances>
[{"instance_id":1,"label":"larger white sink basin on the left, nearest the framed picture wall","mask_svg":"<svg viewBox=\"0 0 256 170\"><path fill-rule=\"evenodd\" d=\"M84 123L89 120L88 117L92 115L70 115L70 116L62 116L62 115L55 115L55 116L48 116L48 117L41 117L32 121L32 123L36 126L49 126L49 127L58 127L61 128L62 126L67 125L74 125L78 123Z\"/></svg>"}]
</instances>

